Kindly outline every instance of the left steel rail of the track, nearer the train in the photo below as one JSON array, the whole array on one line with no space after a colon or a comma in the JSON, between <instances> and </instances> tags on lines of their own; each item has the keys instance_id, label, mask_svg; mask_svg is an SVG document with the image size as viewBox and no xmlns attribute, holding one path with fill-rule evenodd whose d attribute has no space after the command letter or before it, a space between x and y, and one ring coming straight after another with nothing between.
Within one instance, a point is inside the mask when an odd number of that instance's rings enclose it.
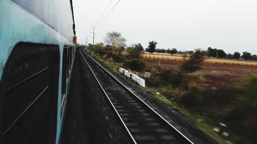
<instances>
[{"instance_id":1,"label":"left steel rail of the track, nearer the train","mask_svg":"<svg viewBox=\"0 0 257 144\"><path fill-rule=\"evenodd\" d=\"M81 50L80 50L80 53L81 53ZM101 87L101 89L103 90L103 92L104 92L105 96L107 97L108 101L111 103L113 109L115 110L116 114L117 114L118 117L120 118L120 120L121 120L123 126L125 127L126 131L127 131L128 134L130 135L131 139L133 140L133 142L134 142L135 144L137 144L137 142L136 142L136 140L134 139L134 137L132 136L131 132L130 132L130 131L128 130L128 128L126 127L125 122L122 120L120 114L118 113L118 111L117 111L116 108L114 107L114 105L113 105L111 99L109 99L107 93L105 92L105 90L103 89L102 85L100 84L100 82L99 82L98 78L96 77L95 73L93 72L93 70L91 69L91 67L88 65L88 63L87 63L85 57L83 56L82 53L81 53L81 55L82 55L83 59L85 60L85 62L86 62L86 64L87 64L88 68L90 69L91 73L92 73L92 74L94 75L94 77L96 78L98 85Z\"/></svg>"}]
</instances>

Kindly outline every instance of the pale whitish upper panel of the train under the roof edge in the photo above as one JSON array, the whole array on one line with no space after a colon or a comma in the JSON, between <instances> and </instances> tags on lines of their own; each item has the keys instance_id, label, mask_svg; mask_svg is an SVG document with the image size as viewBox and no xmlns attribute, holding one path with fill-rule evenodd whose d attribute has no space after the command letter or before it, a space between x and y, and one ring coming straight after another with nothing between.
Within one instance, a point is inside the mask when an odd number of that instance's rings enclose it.
<instances>
[{"instance_id":1,"label":"pale whitish upper panel of the train under the roof edge","mask_svg":"<svg viewBox=\"0 0 257 144\"><path fill-rule=\"evenodd\" d=\"M40 18L46 25L52 27L63 36L67 31L73 33L73 16L70 1L62 0L10 0L29 13Z\"/></svg>"}]
</instances>

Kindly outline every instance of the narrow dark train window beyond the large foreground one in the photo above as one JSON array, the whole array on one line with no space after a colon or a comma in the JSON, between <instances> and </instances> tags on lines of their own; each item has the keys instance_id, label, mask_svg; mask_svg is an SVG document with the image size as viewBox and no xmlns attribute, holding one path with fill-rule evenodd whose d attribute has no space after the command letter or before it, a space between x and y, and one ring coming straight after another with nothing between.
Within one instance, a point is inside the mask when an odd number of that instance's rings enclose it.
<instances>
[{"instance_id":1,"label":"narrow dark train window beyond the large foreground one","mask_svg":"<svg viewBox=\"0 0 257 144\"><path fill-rule=\"evenodd\" d=\"M63 61L62 61L62 103L61 103L61 114L63 112L63 106L66 98L67 88L67 46L63 48Z\"/></svg>"}]
</instances>

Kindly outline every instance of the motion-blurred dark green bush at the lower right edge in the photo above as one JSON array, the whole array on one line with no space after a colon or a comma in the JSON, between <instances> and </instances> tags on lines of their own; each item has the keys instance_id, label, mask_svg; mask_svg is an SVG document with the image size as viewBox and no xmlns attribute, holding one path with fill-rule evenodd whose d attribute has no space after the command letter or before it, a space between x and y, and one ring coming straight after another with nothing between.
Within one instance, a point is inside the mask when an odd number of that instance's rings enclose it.
<instances>
[{"instance_id":1,"label":"motion-blurred dark green bush at the lower right edge","mask_svg":"<svg viewBox=\"0 0 257 144\"><path fill-rule=\"evenodd\" d=\"M245 137L246 141L241 143L251 143L257 140L257 75L242 78L241 83L243 86L234 87L236 101L226 119L234 124L235 131L239 130Z\"/></svg>"}]
</instances>

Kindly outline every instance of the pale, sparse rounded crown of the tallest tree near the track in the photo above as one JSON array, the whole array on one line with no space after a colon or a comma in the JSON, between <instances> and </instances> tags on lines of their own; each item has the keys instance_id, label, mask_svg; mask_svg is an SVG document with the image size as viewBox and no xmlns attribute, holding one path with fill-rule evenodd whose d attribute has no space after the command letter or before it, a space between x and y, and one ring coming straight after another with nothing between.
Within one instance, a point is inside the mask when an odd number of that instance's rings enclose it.
<instances>
[{"instance_id":1,"label":"pale, sparse rounded crown of the tallest tree near the track","mask_svg":"<svg viewBox=\"0 0 257 144\"><path fill-rule=\"evenodd\" d=\"M126 39L119 32L107 32L103 37L104 43L113 47L125 47Z\"/></svg>"}]
</instances>

